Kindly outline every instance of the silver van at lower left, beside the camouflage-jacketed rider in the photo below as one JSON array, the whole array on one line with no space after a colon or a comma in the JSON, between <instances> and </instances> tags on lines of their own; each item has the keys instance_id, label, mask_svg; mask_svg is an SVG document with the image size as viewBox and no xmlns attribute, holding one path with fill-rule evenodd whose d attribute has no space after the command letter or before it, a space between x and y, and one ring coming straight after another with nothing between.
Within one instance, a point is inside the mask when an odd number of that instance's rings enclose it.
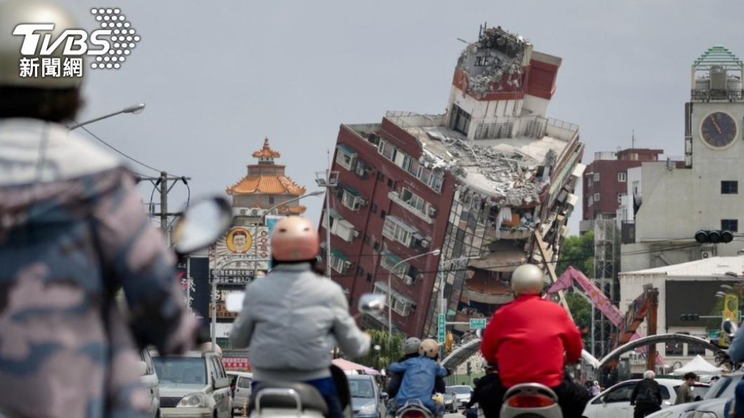
<instances>
[{"instance_id":1,"label":"silver van at lower left, beside the camouflage-jacketed rider","mask_svg":"<svg viewBox=\"0 0 744 418\"><path fill-rule=\"evenodd\" d=\"M160 380L161 417L232 416L230 378L219 354L192 351L153 360Z\"/></svg>"}]
</instances>

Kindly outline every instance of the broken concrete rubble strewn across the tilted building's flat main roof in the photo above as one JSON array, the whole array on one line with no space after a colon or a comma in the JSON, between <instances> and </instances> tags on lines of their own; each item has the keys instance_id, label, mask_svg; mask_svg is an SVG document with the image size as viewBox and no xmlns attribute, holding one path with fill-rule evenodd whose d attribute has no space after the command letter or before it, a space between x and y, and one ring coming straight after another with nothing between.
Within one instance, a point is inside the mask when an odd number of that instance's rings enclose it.
<instances>
[{"instance_id":1,"label":"broken concrete rubble strewn across the tilted building's flat main roof","mask_svg":"<svg viewBox=\"0 0 744 418\"><path fill-rule=\"evenodd\" d=\"M461 178L466 178L469 173L481 174L487 180L482 182L481 189L492 192L493 202L497 205L520 207L539 202L539 195L547 184L547 179L536 175L540 161L521 152L471 145L464 138L447 135L437 129L429 129L426 133L430 138L441 141L447 158L425 149L424 162L427 166L446 168ZM551 152L545 156L544 167L551 167L555 163L557 155Z\"/></svg>"}]
</instances>

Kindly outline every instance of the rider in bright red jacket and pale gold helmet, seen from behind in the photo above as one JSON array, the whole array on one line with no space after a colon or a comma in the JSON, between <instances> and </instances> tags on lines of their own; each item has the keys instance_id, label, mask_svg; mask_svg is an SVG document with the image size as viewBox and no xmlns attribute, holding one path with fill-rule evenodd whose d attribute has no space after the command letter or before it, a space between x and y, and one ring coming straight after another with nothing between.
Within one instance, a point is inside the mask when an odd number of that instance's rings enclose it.
<instances>
[{"instance_id":1,"label":"rider in bright red jacket and pale gold helmet, seen from behind","mask_svg":"<svg viewBox=\"0 0 744 418\"><path fill-rule=\"evenodd\" d=\"M540 297L544 274L532 264L512 274L514 301L498 309L483 335L481 353L498 367L501 393L520 383L540 383L558 395L564 418L581 417L586 388L571 382L565 364L577 363L583 342L574 321L557 303ZM487 417L491 418L491 417Z\"/></svg>"}]
</instances>

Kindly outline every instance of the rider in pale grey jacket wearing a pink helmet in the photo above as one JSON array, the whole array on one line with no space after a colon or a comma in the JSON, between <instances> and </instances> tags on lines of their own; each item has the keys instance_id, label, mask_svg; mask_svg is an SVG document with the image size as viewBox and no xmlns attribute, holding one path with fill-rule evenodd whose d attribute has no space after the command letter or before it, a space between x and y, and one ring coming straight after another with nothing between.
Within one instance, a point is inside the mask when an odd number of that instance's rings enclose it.
<instances>
[{"instance_id":1,"label":"rider in pale grey jacket wearing a pink helmet","mask_svg":"<svg viewBox=\"0 0 744 418\"><path fill-rule=\"evenodd\" d=\"M232 347L248 347L254 385L305 382L341 417L341 402L330 372L336 344L346 356L364 356L368 334L356 327L341 286L312 270L318 231L297 216L282 219L272 235L273 266L246 286L243 310L230 333Z\"/></svg>"}]
</instances>

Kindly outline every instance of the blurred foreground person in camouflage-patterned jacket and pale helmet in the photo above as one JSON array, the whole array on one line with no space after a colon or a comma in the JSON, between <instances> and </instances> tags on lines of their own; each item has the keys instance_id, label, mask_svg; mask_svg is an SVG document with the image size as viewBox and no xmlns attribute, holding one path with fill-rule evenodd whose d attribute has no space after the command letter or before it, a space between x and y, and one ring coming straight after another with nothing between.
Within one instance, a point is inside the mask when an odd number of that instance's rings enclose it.
<instances>
[{"instance_id":1,"label":"blurred foreground person in camouflage-patterned jacket and pale helmet","mask_svg":"<svg viewBox=\"0 0 744 418\"><path fill-rule=\"evenodd\" d=\"M19 23L48 28L14 36ZM52 1L0 1L1 417L144 417L135 346L168 355L196 342L175 257L133 173L68 129L83 106L82 67L61 46L42 59L30 40L62 42L78 28ZM55 77L19 74L19 62L42 60L57 62Z\"/></svg>"}]
</instances>

